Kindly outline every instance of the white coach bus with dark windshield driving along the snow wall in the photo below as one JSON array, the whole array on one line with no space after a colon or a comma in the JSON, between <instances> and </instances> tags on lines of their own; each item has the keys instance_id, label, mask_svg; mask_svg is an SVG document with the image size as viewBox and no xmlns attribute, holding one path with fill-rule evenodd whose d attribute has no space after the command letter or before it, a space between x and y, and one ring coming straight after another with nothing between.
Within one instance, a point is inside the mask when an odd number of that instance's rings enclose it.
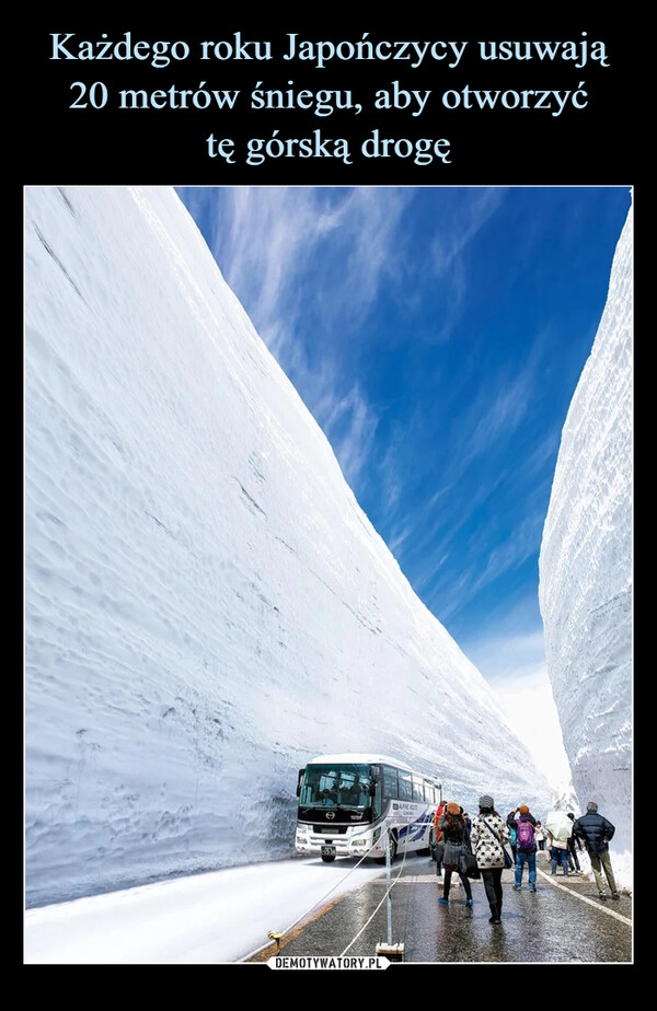
<instances>
[{"instance_id":1,"label":"white coach bus with dark windshield driving along the snow wall","mask_svg":"<svg viewBox=\"0 0 657 1011\"><path fill-rule=\"evenodd\" d=\"M396 758L377 754L319 755L299 769L295 849L385 861L397 852L426 852L442 786Z\"/></svg>"}]
</instances>

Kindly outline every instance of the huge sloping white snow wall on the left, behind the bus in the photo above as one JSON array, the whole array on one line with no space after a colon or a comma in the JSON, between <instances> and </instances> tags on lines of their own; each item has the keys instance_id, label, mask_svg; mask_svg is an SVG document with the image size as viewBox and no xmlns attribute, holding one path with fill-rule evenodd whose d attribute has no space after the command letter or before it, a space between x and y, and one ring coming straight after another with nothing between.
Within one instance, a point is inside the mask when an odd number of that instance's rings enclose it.
<instances>
[{"instance_id":1,"label":"huge sloping white snow wall on the left, behind the bus","mask_svg":"<svg viewBox=\"0 0 657 1011\"><path fill-rule=\"evenodd\" d=\"M25 197L27 905L285 858L322 752L548 807L174 190Z\"/></svg>"}]
</instances>

